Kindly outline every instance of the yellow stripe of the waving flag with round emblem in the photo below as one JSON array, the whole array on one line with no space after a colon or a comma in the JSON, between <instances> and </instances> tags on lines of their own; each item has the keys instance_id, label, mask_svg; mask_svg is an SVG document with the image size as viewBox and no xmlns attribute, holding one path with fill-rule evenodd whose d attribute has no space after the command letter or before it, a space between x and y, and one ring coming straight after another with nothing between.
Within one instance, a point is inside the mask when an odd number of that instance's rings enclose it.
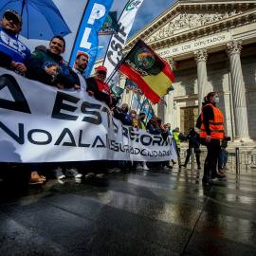
<instances>
[{"instance_id":1,"label":"yellow stripe of the waving flag with round emblem","mask_svg":"<svg viewBox=\"0 0 256 256\"><path fill-rule=\"evenodd\" d=\"M170 78L163 72L160 72L156 76L141 77L141 79L144 80L160 98L166 94L167 89L172 85Z\"/></svg>"}]
</instances>

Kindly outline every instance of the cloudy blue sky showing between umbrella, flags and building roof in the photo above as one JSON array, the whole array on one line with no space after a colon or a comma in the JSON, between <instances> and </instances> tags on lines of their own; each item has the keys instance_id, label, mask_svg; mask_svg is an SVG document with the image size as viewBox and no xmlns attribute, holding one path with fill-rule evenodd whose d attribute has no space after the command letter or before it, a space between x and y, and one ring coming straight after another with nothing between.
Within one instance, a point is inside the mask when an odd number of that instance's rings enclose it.
<instances>
[{"instance_id":1,"label":"cloudy blue sky showing between umbrella, flags and building roof","mask_svg":"<svg viewBox=\"0 0 256 256\"><path fill-rule=\"evenodd\" d=\"M72 31L71 34L64 37L66 41L66 48L63 56L64 60L68 61L77 34L77 30L82 19L82 13L87 1L53 0L53 2L57 6L57 8L60 9L60 12L64 17L67 26ZM118 10L118 18L127 2L128 0L114 0L111 10ZM165 9L168 9L170 6L172 6L174 2L176 2L176 0L144 0L142 6L137 11L136 20L128 38L132 36L134 33L136 33L137 30L139 30L141 27L144 27L146 24L152 21L157 15L159 15ZM49 45L49 41L27 40L22 36L20 36L20 40L26 46L28 46L31 51L35 48L35 46ZM100 59L104 57L109 40L110 36L99 36L99 46L103 46Z\"/></svg>"}]
</instances>

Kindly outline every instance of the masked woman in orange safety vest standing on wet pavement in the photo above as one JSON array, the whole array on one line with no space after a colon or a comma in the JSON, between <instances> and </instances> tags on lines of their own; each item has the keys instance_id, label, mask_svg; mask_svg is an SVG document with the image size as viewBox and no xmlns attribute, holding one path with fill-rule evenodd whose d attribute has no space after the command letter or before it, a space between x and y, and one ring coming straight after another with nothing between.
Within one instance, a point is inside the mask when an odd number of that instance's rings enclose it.
<instances>
[{"instance_id":1,"label":"masked woman in orange safety vest standing on wet pavement","mask_svg":"<svg viewBox=\"0 0 256 256\"><path fill-rule=\"evenodd\" d=\"M224 118L221 111L215 106L219 102L216 92L210 92L204 99L201 112L200 138L201 144L206 145L208 155L205 160L203 183L215 185L212 178L224 178L217 174L216 164L220 154L220 139L225 138ZM211 175L210 175L211 171Z\"/></svg>"}]
</instances>

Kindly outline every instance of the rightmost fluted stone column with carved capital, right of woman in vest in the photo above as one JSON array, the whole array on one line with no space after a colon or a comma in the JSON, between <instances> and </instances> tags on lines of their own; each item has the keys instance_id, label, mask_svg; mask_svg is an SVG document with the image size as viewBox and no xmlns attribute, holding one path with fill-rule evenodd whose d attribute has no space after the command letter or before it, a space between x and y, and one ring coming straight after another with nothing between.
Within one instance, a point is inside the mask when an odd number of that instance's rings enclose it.
<instances>
[{"instance_id":1,"label":"rightmost fluted stone column with carved capital, right of woman in vest","mask_svg":"<svg viewBox=\"0 0 256 256\"><path fill-rule=\"evenodd\" d=\"M230 62L232 98L235 121L235 140L249 139L247 121L247 102L245 82L243 81L240 53L242 41L232 41L227 44L227 54ZM250 139L249 139L250 140Z\"/></svg>"}]
</instances>

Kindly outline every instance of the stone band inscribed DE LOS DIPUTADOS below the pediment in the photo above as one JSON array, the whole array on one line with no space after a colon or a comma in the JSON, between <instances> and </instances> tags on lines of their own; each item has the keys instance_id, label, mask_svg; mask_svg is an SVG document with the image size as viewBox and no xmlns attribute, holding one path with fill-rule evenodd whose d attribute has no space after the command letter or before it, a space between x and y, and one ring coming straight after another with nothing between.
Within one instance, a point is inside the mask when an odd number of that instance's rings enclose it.
<instances>
[{"instance_id":1,"label":"stone band inscribed DE LOS DIPUTADOS below the pediment","mask_svg":"<svg viewBox=\"0 0 256 256\"><path fill-rule=\"evenodd\" d=\"M232 40L232 36L230 32L215 34L210 37L196 39L193 42L188 42L186 44L172 46L172 47L168 47L161 50L156 50L156 53L162 58L165 58L165 57L180 55L185 52L190 52L190 51L192 52L200 48L222 45L224 43L229 42L230 40Z\"/></svg>"}]
</instances>

